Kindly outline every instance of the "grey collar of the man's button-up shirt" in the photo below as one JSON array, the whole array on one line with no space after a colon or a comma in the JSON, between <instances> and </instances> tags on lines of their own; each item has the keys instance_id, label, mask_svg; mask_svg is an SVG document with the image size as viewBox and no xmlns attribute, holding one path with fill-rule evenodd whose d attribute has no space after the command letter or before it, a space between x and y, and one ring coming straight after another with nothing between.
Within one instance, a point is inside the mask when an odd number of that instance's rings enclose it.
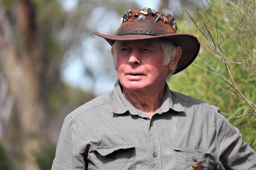
<instances>
[{"instance_id":1,"label":"grey collar of the man's button-up shirt","mask_svg":"<svg viewBox=\"0 0 256 170\"><path fill-rule=\"evenodd\" d=\"M114 86L113 93L114 98L111 112L115 114L123 114L126 111L129 111L132 115L138 115L138 110L124 97L119 80L117 80ZM156 111L156 113L162 114L169 111L170 109L177 112L185 111L183 106L181 106L181 104L172 95L168 84L165 83L164 102L162 106Z\"/></svg>"}]
</instances>

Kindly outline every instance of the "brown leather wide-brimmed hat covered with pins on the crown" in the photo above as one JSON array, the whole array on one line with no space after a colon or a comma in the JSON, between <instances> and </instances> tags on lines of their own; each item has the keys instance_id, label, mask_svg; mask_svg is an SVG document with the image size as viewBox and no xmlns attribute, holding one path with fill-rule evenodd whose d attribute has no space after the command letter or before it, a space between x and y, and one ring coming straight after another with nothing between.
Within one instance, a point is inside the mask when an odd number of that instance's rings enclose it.
<instances>
[{"instance_id":1,"label":"brown leather wide-brimmed hat covered with pins on the crown","mask_svg":"<svg viewBox=\"0 0 256 170\"><path fill-rule=\"evenodd\" d=\"M170 40L180 46L182 55L174 74L187 68L196 58L200 43L191 34L177 33L175 17L163 11L151 8L129 9L121 17L121 26L116 35L105 35L95 30L94 34L105 38L112 46L115 41L135 41L153 38Z\"/></svg>"}]
</instances>

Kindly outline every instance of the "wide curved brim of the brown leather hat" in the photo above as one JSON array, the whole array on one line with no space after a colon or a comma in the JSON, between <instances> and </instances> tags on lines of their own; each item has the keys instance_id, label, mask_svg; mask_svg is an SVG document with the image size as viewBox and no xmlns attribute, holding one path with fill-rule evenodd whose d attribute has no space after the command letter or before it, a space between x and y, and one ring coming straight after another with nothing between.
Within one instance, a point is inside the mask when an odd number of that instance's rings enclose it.
<instances>
[{"instance_id":1,"label":"wide curved brim of the brown leather hat","mask_svg":"<svg viewBox=\"0 0 256 170\"><path fill-rule=\"evenodd\" d=\"M164 38L172 41L175 46L180 46L182 50L181 58L178 61L177 69L173 73L176 74L181 72L185 68L187 68L196 58L197 54L200 50L200 42L199 40L191 34L165 34L165 35L105 35L101 34L95 30L92 31L95 35L104 38L108 43L113 46L115 41L134 41L134 40L145 40L145 39L153 39L153 38Z\"/></svg>"}]
</instances>

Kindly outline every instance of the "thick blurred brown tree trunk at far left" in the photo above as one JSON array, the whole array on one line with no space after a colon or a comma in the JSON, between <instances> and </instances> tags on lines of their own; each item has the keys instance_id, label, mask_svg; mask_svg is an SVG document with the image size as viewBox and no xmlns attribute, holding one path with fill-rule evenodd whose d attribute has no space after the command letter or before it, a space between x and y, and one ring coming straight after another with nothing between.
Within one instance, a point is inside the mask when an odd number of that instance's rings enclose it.
<instances>
[{"instance_id":1,"label":"thick blurred brown tree trunk at far left","mask_svg":"<svg viewBox=\"0 0 256 170\"><path fill-rule=\"evenodd\" d=\"M38 35L36 16L31 1L14 1L17 9L17 33L13 33L10 20L1 8L1 72L9 85L9 92L14 101L10 122L16 120L15 127L7 125L8 134L5 142L15 140L19 134L19 146L10 148L11 153L18 154L20 148L24 160L21 169L39 169L35 153L39 152L40 129L43 124L45 107L41 97L43 68L45 66L43 47ZM16 37L12 37L16 35ZM17 38L18 41L13 41ZM17 44L14 44L17 42ZM11 70L11 71L10 71ZM19 132L12 132L18 130Z\"/></svg>"}]
</instances>

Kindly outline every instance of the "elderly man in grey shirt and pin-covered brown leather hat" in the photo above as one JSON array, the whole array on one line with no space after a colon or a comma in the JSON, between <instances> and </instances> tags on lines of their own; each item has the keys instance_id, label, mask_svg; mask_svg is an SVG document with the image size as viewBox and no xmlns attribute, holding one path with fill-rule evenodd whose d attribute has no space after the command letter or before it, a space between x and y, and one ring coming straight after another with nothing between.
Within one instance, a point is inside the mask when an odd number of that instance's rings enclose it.
<instances>
[{"instance_id":1,"label":"elderly man in grey shirt and pin-covered brown leather hat","mask_svg":"<svg viewBox=\"0 0 256 170\"><path fill-rule=\"evenodd\" d=\"M112 91L64 120L52 169L254 169L256 154L215 106L171 91L167 78L192 63L200 44L175 18L128 10L112 45Z\"/></svg>"}]
</instances>

